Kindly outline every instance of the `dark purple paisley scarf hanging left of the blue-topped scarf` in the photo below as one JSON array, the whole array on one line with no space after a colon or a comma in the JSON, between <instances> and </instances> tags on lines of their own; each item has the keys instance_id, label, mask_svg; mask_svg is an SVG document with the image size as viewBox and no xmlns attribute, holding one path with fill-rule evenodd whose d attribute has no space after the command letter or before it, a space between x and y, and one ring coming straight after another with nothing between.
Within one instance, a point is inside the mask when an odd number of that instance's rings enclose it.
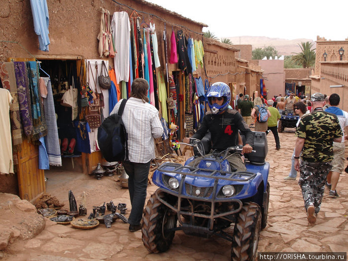
<instances>
[{"instance_id":1,"label":"dark purple paisley scarf hanging left of the blue-topped scarf","mask_svg":"<svg viewBox=\"0 0 348 261\"><path fill-rule=\"evenodd\" d=\"M13 65L17 84L20 118L24 134L29 137L33 131L33 124L31 120L31 105L28 103L28 101L30 102L30 96L27 68L24 62L14 62Z\"/></svg>"}]
</instances>

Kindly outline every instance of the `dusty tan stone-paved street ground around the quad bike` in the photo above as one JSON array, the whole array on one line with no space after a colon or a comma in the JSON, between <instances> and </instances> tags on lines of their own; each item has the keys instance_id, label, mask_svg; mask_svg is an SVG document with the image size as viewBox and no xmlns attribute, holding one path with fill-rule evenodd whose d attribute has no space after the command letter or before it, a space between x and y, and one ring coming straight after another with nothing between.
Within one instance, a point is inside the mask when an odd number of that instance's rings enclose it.
<instances>
[{"instance_id":1,"label":"dusty tan stone-paved street ground around the quad bike","mask_svg":"<svg viewBox=\"0 0 348 261\"><path fill-rule=\"evenodd\" d=\"M339 198L332 199L325 189L322 208L315 225L310 225L303 208L297 180L283 179L290 170L290 158L295 145L293 132L280 133L281 149L275 150L274 138L268 134L270 163L270 203L267 227L261 232L259 252L348 252L348 178L342 174L338 184ZM347 165L347 161L345 162ZM78 196L87 192L87 209L103 201L125 202L130 208L127 189L121 189L116 177L96 180L78 173L47 174L47 192L61 198L69 189ZM115 189L116 187L116 189ZM148 196L156 190L150 185ZM67 201L66 201L67 203ZM68 204L68 203L67 203ZM129 211L129 209L127 210ZM88 212L88 213L89 213ZM128 212L129 213L129 212ZM141 232L131 233L119 219L110 229L103 224L91 230L74 229L48 221L44 231L28 241L11 245L3 260L8 261L92 261L92 260L173 260L228 261L231 243L218 237L211 239L175 233L170 250L150 254L143 246Z\"/></svg>"}]
</instances>

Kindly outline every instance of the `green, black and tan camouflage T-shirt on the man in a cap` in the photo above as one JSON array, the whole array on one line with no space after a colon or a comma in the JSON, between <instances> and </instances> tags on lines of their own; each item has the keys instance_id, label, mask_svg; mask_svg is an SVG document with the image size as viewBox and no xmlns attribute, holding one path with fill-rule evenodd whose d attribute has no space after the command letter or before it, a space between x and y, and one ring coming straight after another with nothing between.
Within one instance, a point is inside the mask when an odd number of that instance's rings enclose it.
<instances>
[{"instance_id":1,"label":"green, black and tan camouflage T-shirt on the man in a cap","mask_svg":"<svg viewBox=\"0 0 348 261\"><path fill-rule=\"evenodd\" d=\"M333 139L342 137L336 115L326 111L314 111L302 116L296 136L305 139L301 159L307 162L331 162Z\"/></svg>"}]
</instances>

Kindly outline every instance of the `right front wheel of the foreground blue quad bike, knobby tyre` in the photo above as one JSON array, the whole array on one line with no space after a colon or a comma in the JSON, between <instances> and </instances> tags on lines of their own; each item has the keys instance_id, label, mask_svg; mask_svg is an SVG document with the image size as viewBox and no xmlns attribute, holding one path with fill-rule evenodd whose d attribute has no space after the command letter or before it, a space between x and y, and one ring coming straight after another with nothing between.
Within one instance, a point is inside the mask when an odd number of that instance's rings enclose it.
<instances>
[{"instance_id":1,"label":"right front wheel of the foreground blue quad bike, knobby tyre","mask_svg":"<svg viewBox=\"0 0 348 261\"><path fill-rule=\"evenodd\" d=\"M261 210L258 204L243 204L238 215L231 248L231 261L254 261L261 229Z\"/></svg>"}]
</instances>

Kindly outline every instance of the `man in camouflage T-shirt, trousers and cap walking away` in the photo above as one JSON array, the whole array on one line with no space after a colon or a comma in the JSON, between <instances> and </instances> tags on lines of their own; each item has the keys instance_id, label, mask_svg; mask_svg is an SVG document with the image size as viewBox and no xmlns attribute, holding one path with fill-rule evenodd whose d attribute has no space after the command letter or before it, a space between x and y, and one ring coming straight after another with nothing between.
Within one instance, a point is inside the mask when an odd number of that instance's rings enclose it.
<instances>
[{"instance_id":1,"label":"man in camouflage T-shirt, trousers and cap walking away","mask_svg":"<svg viewBox=\"0 0 348 261\"><path fill-rule=\"evenodd\" d=\"M312 224L320 210L326 177L331 170L333 142L342 139L337 116L323 111L324 100L324 95L319 92L311 96L313 112L304 115L296 129L294 166L296 171L300 171L298 184L302 189L308 222Z\"/></svg>"}]
</instances>

